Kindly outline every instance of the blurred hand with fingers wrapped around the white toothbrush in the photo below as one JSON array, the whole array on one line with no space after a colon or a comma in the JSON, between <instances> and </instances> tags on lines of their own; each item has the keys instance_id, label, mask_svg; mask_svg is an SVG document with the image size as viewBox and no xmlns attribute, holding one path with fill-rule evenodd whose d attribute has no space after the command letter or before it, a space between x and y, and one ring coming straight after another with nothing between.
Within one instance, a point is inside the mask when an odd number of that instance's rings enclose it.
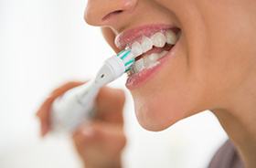
<instances>
[{"instance_id":1,"label":"blurred hand with fingers wrapped around the white toothbrush","mask_svg":"<svg viewBox=\"0 0 256 168\"><path fill-rule=\"evenodd\" d=\"M68 89L82 82L69 82L55 89L37 111L41 134L50 131L50 106ZM102 88L97 96L95 117L80 125L73 134L73 142L87 168L121 167L121 154L126 138L123 133L124 93L121 89Z\"/></svg>"}]
</instances>

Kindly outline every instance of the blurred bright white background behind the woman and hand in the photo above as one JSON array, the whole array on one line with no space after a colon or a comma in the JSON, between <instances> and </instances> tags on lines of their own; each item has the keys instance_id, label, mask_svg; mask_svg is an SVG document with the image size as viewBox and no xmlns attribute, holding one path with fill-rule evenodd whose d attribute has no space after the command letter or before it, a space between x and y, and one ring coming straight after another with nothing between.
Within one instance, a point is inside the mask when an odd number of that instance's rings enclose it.
<instances>
[{"instance_id":1,"label":"blurred bright white background behind the woman and hand","mask_svg":"<svg viewBox=\"0 0 256 168\"><path fill-rule=\"evenodd\" d=\"M52 89L90 79L113 52L83 21L86 1L0 0L0 167L81 167L69 138L39 137L35 116ZM227 135L208 111L166 131L144 131L135 119L125 77L126 168L204 168Z\"/></svg>"}]
</instances>

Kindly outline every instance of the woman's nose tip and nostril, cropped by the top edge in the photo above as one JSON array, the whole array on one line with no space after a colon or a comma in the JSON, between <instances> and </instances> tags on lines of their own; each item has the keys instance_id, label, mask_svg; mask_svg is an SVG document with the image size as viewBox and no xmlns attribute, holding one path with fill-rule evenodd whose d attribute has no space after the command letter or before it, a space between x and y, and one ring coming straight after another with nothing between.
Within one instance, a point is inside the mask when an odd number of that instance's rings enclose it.
<instances>
[{"instance_id":1,"label":"woman's nose tip and nostril, cropped by the top edge","mask_svg":"<svg viewBox=\"0 0 256 168\"><path fill-rule=\"evenodd\" d=\"M132 11L138 0L88 0L84 19L91 26L110 26ZM119 19L120 20L120 19Z\"/></svg>"}]
</instances>

